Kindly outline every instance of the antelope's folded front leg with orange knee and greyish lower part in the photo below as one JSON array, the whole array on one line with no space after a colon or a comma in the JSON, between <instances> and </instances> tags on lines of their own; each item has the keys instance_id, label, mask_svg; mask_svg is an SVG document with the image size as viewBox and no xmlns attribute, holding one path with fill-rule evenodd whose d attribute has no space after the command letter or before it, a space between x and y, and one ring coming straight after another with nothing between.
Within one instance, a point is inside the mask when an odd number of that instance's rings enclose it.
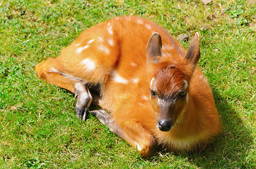
<instances>
[{"instance_id":1,"label":"antelope's folded front leg with orange knee and greyish lower part","mask_svg":"<svg viewBox=\"0 0 256 169\"><path fill-rule=\"evenodd\" d=\"M139 151L140 156L147 158L156 151L156 140L141 123L126 120L125 123L119 124L105 110L91 111L91 114L98 118L100 123L109 127L112 132Z\"/></svg>"}]
</instances>

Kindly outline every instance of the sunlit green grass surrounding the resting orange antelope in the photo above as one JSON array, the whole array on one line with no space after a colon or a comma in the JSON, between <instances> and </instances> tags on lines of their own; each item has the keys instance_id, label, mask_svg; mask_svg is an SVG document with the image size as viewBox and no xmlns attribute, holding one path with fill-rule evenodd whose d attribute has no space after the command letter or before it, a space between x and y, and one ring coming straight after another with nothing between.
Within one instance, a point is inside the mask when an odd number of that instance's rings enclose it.
<instances>
[{"instance_id":1,"label":"sunlit green grass surrounding the resting orange antelope","mask_svg":"<svg viewBox=\"0 0 256 169\"><path fill-rule=\"evenodd\" d=\"M141 158L97 119L78 120L74 96L35 75L87 27L130 14L175 37L201 35L199 66L223 125L202 154ZM0 168L256 168L255 26L256 4L243 0L0 1Z\"/></svg>"}]
</instances>

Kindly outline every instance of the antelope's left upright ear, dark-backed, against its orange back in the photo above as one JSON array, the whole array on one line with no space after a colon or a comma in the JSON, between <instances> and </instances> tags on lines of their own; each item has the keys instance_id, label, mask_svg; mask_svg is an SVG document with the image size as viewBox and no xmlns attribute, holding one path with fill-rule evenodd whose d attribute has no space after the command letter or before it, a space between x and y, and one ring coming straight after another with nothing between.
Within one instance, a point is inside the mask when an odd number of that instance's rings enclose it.
<instances>
[{"instance_id":1,"label":"antelope's left upright ear, dark-backed, against its orange back","mask_svg":"<svg viewBox=\"0 0 256 169\"><path fill-rule=\"evenodd\" d=\"M146 58L149 63L158 63L162 56L162 39L158 33L153 33L146 45Z\"/></svg>"}]
</instances>

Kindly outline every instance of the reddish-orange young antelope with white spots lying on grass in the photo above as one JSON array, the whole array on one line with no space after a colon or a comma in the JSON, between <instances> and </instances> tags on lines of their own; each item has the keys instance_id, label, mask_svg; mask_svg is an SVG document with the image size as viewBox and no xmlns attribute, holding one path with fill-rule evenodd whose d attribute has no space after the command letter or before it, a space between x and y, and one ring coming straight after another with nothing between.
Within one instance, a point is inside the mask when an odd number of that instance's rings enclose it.
<instances>
[{"instance_id":1,"label":"reddish-orange young antelope with white spots lying on grass","mask_svg":"<svg viewBox=\"0 0 256 169\"><path fill-rule=\"evenodd\" d=\"M112 18L84 31L35 67L38 77L77 98L76 115L91 114L144 157L204 149L220 130L214 98L199 61L199 35L187 52L156 23Z\"/></svg>"}]
</instances>

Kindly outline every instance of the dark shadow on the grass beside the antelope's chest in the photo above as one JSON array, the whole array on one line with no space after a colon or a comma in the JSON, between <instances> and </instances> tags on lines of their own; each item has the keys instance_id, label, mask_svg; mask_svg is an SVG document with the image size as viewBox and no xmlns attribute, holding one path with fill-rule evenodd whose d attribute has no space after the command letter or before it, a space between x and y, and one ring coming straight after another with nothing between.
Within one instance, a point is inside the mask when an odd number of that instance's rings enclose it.
<instances>
[{"instance_id":1,"label":"dark shadow on the grass beside the antelope's chest","mask_svg":"<svg viewBox=\"0 0 256 169\"><path fill-rule=\"evenodd\" d=\"M223 130L207 144L202 154L175 154L188 158L190 163L203 168L253 168L255 159L250 156L252 134L235 110L217 90L213 89L216 108Z\"/></svg>"}]
</instances>

